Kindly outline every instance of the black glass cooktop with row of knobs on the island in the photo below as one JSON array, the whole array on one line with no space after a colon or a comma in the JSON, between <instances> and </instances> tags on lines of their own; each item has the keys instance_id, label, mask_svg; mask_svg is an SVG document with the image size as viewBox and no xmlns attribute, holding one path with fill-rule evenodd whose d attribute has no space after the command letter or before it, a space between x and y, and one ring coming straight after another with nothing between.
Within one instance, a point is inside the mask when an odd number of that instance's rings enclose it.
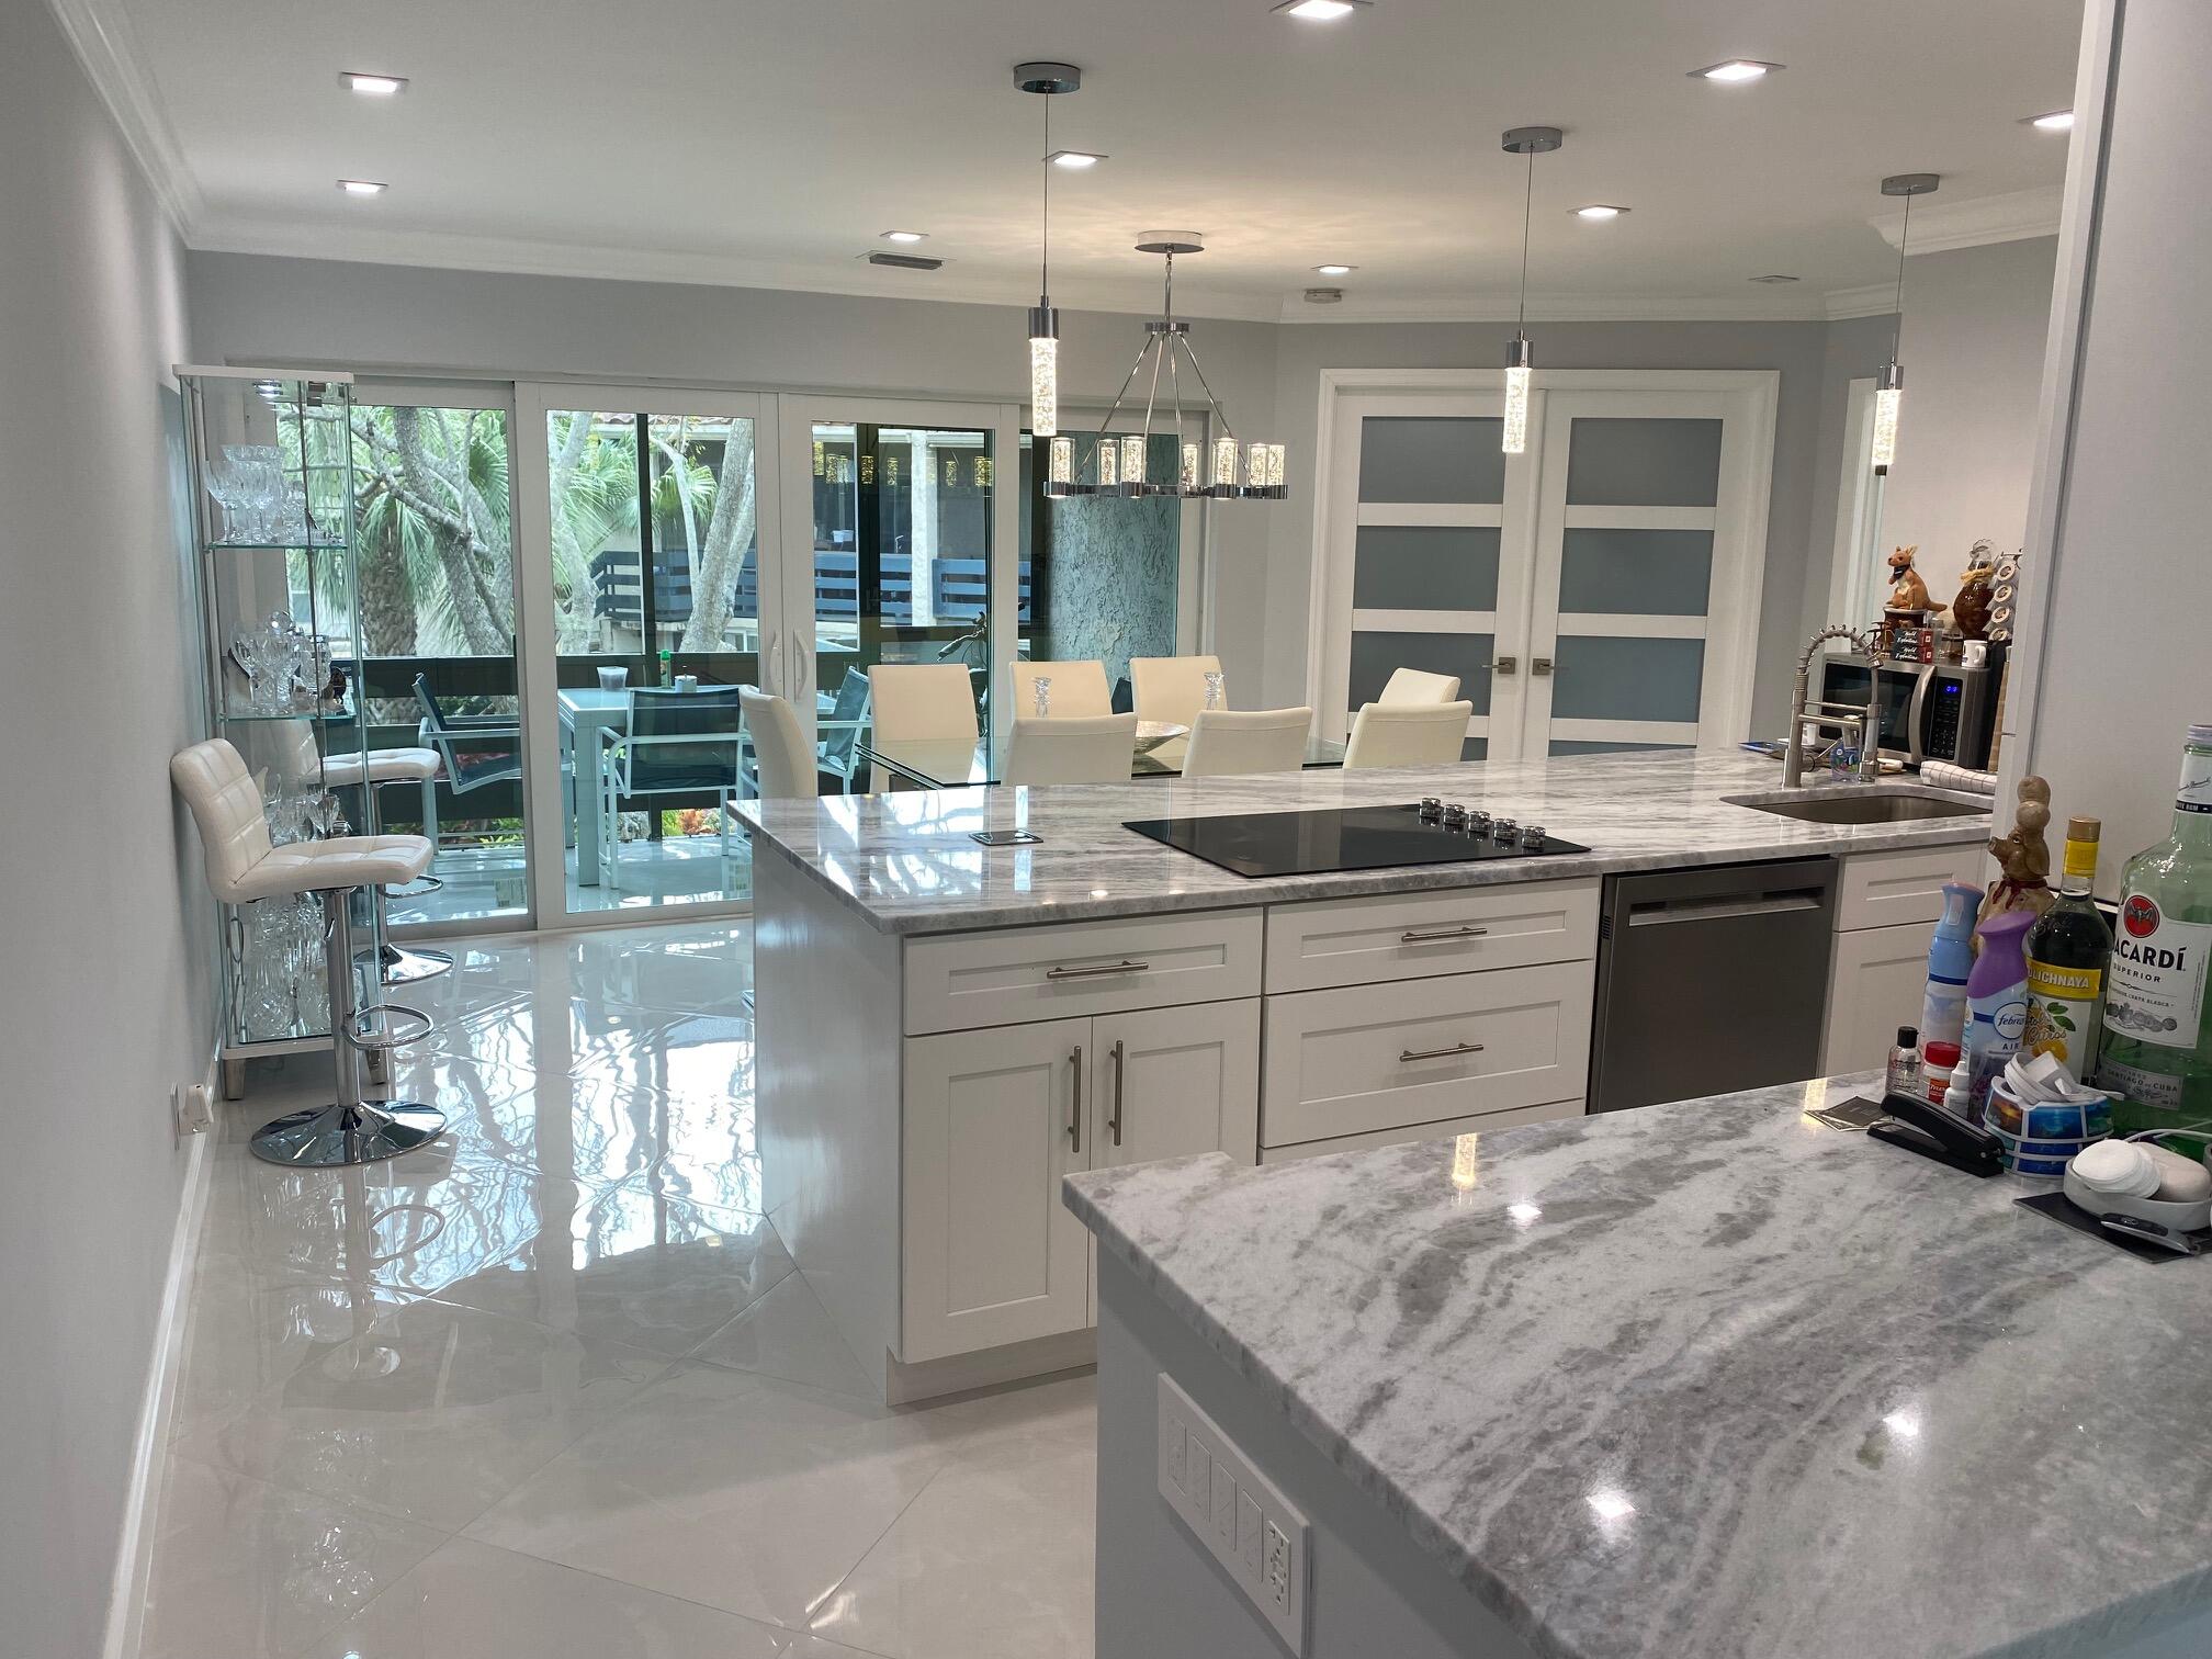
<instances>
[{"instance_id":1,"label":"black glass cooktop with row of knobs on the island","mask_svg":"<svg viewBox=\"0 0 2212 1659\"><path fill-rule=\"evenodd\" d=\"M1139 836L1164 841L1239 876L1321 876L1334 869L1396 865L1462 865L1484 858L1553 858L1588 852L1544 836L1526 845L1491 834L1484 814L1455 812L1447 823L1436 803L1329 807L1318 812L1245 812L1225 818L1137 818ZM1473 827L1469 827L1473 825Z\"/></svg>"}]
</instances>

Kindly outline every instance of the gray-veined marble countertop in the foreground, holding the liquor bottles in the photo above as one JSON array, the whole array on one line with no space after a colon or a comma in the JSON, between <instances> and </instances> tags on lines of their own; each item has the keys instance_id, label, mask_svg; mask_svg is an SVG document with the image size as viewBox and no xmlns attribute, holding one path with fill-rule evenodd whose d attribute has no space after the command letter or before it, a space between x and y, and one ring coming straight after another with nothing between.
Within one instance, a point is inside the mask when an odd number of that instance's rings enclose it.
<instances>
[{"instance_id":1,"label":"gray-veined marble countertop in the foreground, holding the liquor bottles","mask_svg":"<svg viewBox=\"0 0 2212 1659\"><path fill-rule=\"evenodd\" d=\"M1867 1082L1066 1197L1542 1655L2026 1659L2212 1606L2212 1261L1803 1115Z\"/></svg>"}]
</instances>

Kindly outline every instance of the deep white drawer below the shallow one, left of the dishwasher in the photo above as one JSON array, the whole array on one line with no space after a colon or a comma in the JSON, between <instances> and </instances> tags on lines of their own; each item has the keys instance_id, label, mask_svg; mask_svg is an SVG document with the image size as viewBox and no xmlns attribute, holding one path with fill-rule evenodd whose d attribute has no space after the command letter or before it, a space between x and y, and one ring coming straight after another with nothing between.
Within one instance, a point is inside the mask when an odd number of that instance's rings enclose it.
<instances>
[{"instance_id":1,"label":"deep white drawer below the shallow one, left of the dishwasher","mask_svg":"<svg viewBox=\"0 0 2212 1659\"><path fill-rule=\"evenodd\" d=\"M1267 998L1261 1146L1582 1099L1595 962Z\"/></svg>"}]
</instances>

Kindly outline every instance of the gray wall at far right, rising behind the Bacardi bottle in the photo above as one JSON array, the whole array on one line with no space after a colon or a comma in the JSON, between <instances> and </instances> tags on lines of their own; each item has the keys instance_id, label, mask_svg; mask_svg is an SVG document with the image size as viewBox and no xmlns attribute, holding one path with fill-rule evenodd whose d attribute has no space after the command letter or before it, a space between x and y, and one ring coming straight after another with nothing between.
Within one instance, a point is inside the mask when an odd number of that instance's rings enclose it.
<instances>
[{"instance_id":1,"label":"gray wall at far right, rising behind the Bacardi bottle","mask_svg":"<svg viewBox=\"0 0 2212 1659\"><path fill-rule=\"evenodd\" d=\"M2212 173L2208 62L2203 0L2128 0L2044 679L2024 723L2053 812L2104 818L2106 891L2128 854L2166 838L2183 728L2212 721L2212 215L2192 195Z\"/></svg>"}]
</instances>

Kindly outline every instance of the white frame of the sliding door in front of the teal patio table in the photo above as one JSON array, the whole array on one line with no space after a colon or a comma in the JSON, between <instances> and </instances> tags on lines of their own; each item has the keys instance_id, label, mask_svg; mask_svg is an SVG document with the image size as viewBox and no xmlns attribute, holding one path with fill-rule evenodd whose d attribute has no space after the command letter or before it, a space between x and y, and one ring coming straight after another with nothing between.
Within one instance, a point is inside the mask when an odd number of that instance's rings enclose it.
<instances>
[{"instance_id":1,"label":"white frame of the sliding door in front of the teal patio table","mask_svg":"<svg viewBox=\"0 0 2212 1659\"><path fill-rule=\"evenodd\" d=\"M546 414L553 409L644 409L648 414L690 414L752 420L752 500L754 538L761 549L761 622L772 606L770 551L779 540L776 515L776 400L759 392L706 392L668 385L617 385L604 380L518 380L515 422L515 608L518 608L518 679L540 686L544 697L522 699L524 779L529 783L529 825L560 825L560 710L553 688L560 686L560 650L553 639L553 469L546 456ZM765 641L763 641L765 648ZM765 672L765 668L763 668ZM577 801L584 801L582 781ZM540 929L557 927L635 927L653 920L686 920L697 916L743 916L743 900L701 900L690 905L655 905L650 911L606 909L568 911L568 860L564 834L529 836L531 896ZM544 845L544 843L551 843Z\"/></svg>"}]
</instances>

